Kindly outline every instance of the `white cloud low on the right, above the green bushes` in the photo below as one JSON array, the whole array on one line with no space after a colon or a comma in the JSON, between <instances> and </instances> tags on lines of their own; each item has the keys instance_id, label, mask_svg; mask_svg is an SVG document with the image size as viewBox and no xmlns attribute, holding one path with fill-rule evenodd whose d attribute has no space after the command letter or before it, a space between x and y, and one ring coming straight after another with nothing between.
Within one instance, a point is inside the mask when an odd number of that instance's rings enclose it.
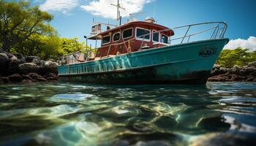
<instances>
[{"instance_id":1,"label":"white cloud low on the right, above the green bushes","mask_svg":"<svg viewBox=\"0 0 256 146\"><path fill-rule=\"evenodd\" d=\"M225 45L224 49L236 49L237 47L256 50L256 37L251 36L248 39L231 39L230 42Z\"/></svg>"}]
</instances>

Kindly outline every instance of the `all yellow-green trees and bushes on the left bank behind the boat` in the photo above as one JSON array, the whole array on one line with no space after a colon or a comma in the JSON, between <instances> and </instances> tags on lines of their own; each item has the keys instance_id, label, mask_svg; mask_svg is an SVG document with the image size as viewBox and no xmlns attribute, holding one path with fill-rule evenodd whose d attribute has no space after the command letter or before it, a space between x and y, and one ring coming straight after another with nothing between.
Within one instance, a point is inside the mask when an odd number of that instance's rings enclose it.
<instances>
[{"instance_id":1,"label":"all yellow-green trees and bushes on the left bank behind the boat","mask_svg":"<svg viewBox=\"0 0 256 146\"><path fill-rule=\"evenodd\" d=\"M86 48L77 38L59 38L50 26L53 16L29 1L0 0L0 17L0 47L7 52L48 59Z\"/></svg>"}]
</instances>

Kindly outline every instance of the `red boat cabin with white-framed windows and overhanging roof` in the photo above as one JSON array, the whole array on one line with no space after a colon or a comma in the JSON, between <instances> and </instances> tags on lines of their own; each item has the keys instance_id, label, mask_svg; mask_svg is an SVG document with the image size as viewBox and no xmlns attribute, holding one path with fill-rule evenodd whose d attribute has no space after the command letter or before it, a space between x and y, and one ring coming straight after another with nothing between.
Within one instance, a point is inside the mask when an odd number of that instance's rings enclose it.
<instances>
[{"instance_id":1,"label":"red boat cabin with white-framed windows and overhanging roof","mask_svg":"<svg viewBox=\"0 0 256 146\"><path fill-rule=\"evenodd\" d=\"M174 32L154 22L153 18L132 21L97 34L94 39L98 38L102 41L95 58L166 46L168 37L173 36Z\"/></svg>"}]
</instances>

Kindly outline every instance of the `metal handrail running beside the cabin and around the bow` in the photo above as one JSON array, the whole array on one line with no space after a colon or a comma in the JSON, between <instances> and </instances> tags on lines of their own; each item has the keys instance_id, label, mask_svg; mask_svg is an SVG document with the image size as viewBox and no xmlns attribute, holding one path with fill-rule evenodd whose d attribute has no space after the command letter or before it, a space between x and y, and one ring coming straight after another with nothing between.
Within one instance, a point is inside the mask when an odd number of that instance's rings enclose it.
<instances>
[{"instance_id":1,"label":"metal handrail running beside the cabin and around the bow","mask_svg":"<svg viewBox=\"0 0 256 146\"><path fill-rule=\"evenodd\" d=\"M198 31L198 32L195 32L193 34L189 34L189 30L191 30L191 28L193 26L201 26L201 25L207 25L207 24L217 24L215 26L212 26L210 28L206 28L204 29L203 31ZM219 26L223 26L223 27L219 27ZM210 39L221 39L224 37L225 35L225 32L227 31L227 23L225 22L206 22L206 23L193 23L193 24L189 24L189 25L184 25L184 26L178 26L178 27L174 27L174 28L167 28L167 29L164 29L164 30L161 30L161 31L154 31L154 32L151 32L148 33L148 34L143 34L143 35L140 35L139 37L133 37L132 39L128 39L126 41L124 41L124 38L122 37L121 35L121 39L123 40L123 42L119 42L119 43L115 43L115 44L110 44L110 45L105 45L104 47L108 47L108 55L109 55L109 52L110 52L110 49L111 49L111 46L115 46L115 45L125 45L126 49L127 49L127 53L129 53L128 51L128 48L127 48L127 45L126 43L127 42L131 42L132 40L134 39L138 39L138 38L143 38L142 42L141 42L141 45L140 45L140 49L143 47L143 42L144 42L144 39L146 36L148 35L152 35L152 34L157 34L157 33L162 33L162 32L165 32L165 31L173 31L175 29L178 29L178 28L187 28L187 31L186 33L184 34L183 37L178 37L178 38L174 38L174 39L168 39L168 42L167 42L167 45L170 45L170 42L174 41L174 40L178 40L178 39L181 39L181 42L180 44L183 44L184 43L184 39L186 39L187 37L188 40L187 42L189 42L189 40L191 39L192 36L195 36L197 34L203 34L204 32L206 31L210 31L211 29L214 29L214 32L211 34L211 37ZM120 28L121 29L121 28ZM121 30L120 30L121 31ZM218 35L219 34L219 35ZM170 37L169 37L170 38ZM159 40L160 41L160 40ZM187 43L186 42L186 43Z\"/></svg>"}]
</instances>

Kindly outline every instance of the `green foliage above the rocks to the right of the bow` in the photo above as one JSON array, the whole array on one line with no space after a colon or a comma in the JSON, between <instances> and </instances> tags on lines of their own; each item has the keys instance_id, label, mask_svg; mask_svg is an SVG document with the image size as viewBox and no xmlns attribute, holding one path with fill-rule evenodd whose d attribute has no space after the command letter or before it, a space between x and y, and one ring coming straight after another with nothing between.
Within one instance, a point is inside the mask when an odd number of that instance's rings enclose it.
<instances>
[{"instance_id":1,"label":"green foliage above the rocks to the right of the bow","mask_svg":"<svg viewBox=\"0 0 256 146\"><path fill-rule=\"evenodd\" d=\"M249 52L249 49L238 47L235 50L222 50L217 64L231 68L234 65L246 66L252 61L256 61L256 51Z\"/></svg>"}]
</instances>

